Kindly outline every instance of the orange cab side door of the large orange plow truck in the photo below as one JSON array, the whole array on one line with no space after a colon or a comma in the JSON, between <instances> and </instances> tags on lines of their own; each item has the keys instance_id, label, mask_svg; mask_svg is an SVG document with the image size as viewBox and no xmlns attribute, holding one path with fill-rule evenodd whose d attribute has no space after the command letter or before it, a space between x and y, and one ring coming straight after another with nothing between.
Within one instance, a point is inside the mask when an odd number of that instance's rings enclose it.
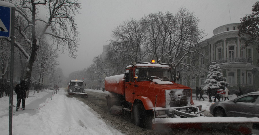
<instances>
[{"instance_id":1,"label":"orange cab side door of the large orange plow truck","mask_svg":"<svg viewBox=\"0 0 259 135\"><path fill-rule=\"evenodd\" d=\"M125 100L128 102L133 103L134 100L134 72L132 69L126 69L129 70L129 80L125 81Z\"/></svg>"}]
</instances>

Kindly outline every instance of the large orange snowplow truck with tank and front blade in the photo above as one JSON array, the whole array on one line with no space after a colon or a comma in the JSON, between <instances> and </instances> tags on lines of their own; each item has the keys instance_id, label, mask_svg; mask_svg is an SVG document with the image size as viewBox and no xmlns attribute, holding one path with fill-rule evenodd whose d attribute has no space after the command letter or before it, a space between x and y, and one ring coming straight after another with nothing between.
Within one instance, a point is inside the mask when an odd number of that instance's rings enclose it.
<instances>
[{"instance_id":1,"label":"large orange snowplow truck with tank and front blade","mask_svg":"<svg viewBox=\"0 0 259 135\"><path fill-rule=\"evenodd\" d=\"M192 89L177 84L180 71L174 63L132 61L125 74L105 78L108 110L115 114L131 113L132 121L142 128L181 128L234 130L252 134L259 118L205 117L201 105L194 105Z\"/></svg>"}]
</instances>

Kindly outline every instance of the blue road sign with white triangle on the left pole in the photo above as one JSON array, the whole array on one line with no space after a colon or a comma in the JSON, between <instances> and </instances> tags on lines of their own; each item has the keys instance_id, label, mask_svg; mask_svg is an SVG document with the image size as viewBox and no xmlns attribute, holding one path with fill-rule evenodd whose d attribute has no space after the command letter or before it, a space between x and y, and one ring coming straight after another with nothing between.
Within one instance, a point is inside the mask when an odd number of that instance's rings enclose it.
<instances>
[{"instance_id":1,"label":"blue road sign with white triangle on the left pole","mask_svg":"<svg viewBox=\"0 0 259 135\"><path fill-rule=\"evenodd\" d=\"M11 7L0 5L0 37L11 37Z\"/></svg>"}]
</instances>

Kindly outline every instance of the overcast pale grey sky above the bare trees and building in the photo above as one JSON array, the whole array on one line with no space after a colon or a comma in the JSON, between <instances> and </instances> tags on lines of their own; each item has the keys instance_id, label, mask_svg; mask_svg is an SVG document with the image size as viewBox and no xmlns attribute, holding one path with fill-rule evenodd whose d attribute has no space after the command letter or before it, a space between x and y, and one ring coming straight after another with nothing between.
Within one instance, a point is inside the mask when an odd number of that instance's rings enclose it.
<instances>
[{"instance_id":1,"label":"overcast pale grey sky above the bare trees and building","mask_svg":"<svg viewBox=\"0 0 259 135\"><path fill-rule=\"evenodd\" d=\"M100 55L112 30L130 18L136 20L149 13L169 11L173 14L184 6L200 18L200 28L213 36L212 31L222 25L240 23L240 18L252 13L256 0L79 0L81 14L76 15L80 42L77 58L60 54L58 61L65 76L89 67ZM229 7L229 8L228 8ZM230 14L229 14L230 11ZM230 20L231 18L231 20ZM130 64L130 63L129 63Z\"/></svg>"}]
</instances>

